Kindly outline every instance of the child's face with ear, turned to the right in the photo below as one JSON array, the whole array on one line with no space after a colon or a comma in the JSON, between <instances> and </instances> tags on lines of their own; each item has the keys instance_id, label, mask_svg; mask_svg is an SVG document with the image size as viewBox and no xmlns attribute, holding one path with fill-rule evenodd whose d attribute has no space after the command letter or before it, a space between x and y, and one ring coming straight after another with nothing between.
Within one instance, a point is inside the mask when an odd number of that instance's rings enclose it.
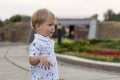
<instances>
[{"instance_id":1,"label":"child's face with ear, turned to the right","mask_svg":"<svg viewBox=\"0 0 120 80\"><path fill-rule=\"evenodd\" d=\"M56 21L47 21L37 27L37 33L45 36L51 37L55 32L55 23Z\"/></svg>"}]
</instances>

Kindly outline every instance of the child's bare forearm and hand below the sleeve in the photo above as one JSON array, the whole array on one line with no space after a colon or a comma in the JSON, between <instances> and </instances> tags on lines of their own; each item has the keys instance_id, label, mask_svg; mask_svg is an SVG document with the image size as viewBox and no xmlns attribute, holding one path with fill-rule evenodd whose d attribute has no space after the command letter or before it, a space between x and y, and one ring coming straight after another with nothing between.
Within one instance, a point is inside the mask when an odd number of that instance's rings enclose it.
<instances>
[{"instance_id":1,"label":"child's bare forearm and hand below the sleeve","mask_svg":"<svg viewBox=\"0 0 120 80\"><path fill-rule=\"evenodd\" d=\"M30 56L29 62L31 65L37 65L41 63L42 67L44 67L45 69L50 69L50 67L52 66L52 64L43 56Z\"/></svg>"}]
</instances>

